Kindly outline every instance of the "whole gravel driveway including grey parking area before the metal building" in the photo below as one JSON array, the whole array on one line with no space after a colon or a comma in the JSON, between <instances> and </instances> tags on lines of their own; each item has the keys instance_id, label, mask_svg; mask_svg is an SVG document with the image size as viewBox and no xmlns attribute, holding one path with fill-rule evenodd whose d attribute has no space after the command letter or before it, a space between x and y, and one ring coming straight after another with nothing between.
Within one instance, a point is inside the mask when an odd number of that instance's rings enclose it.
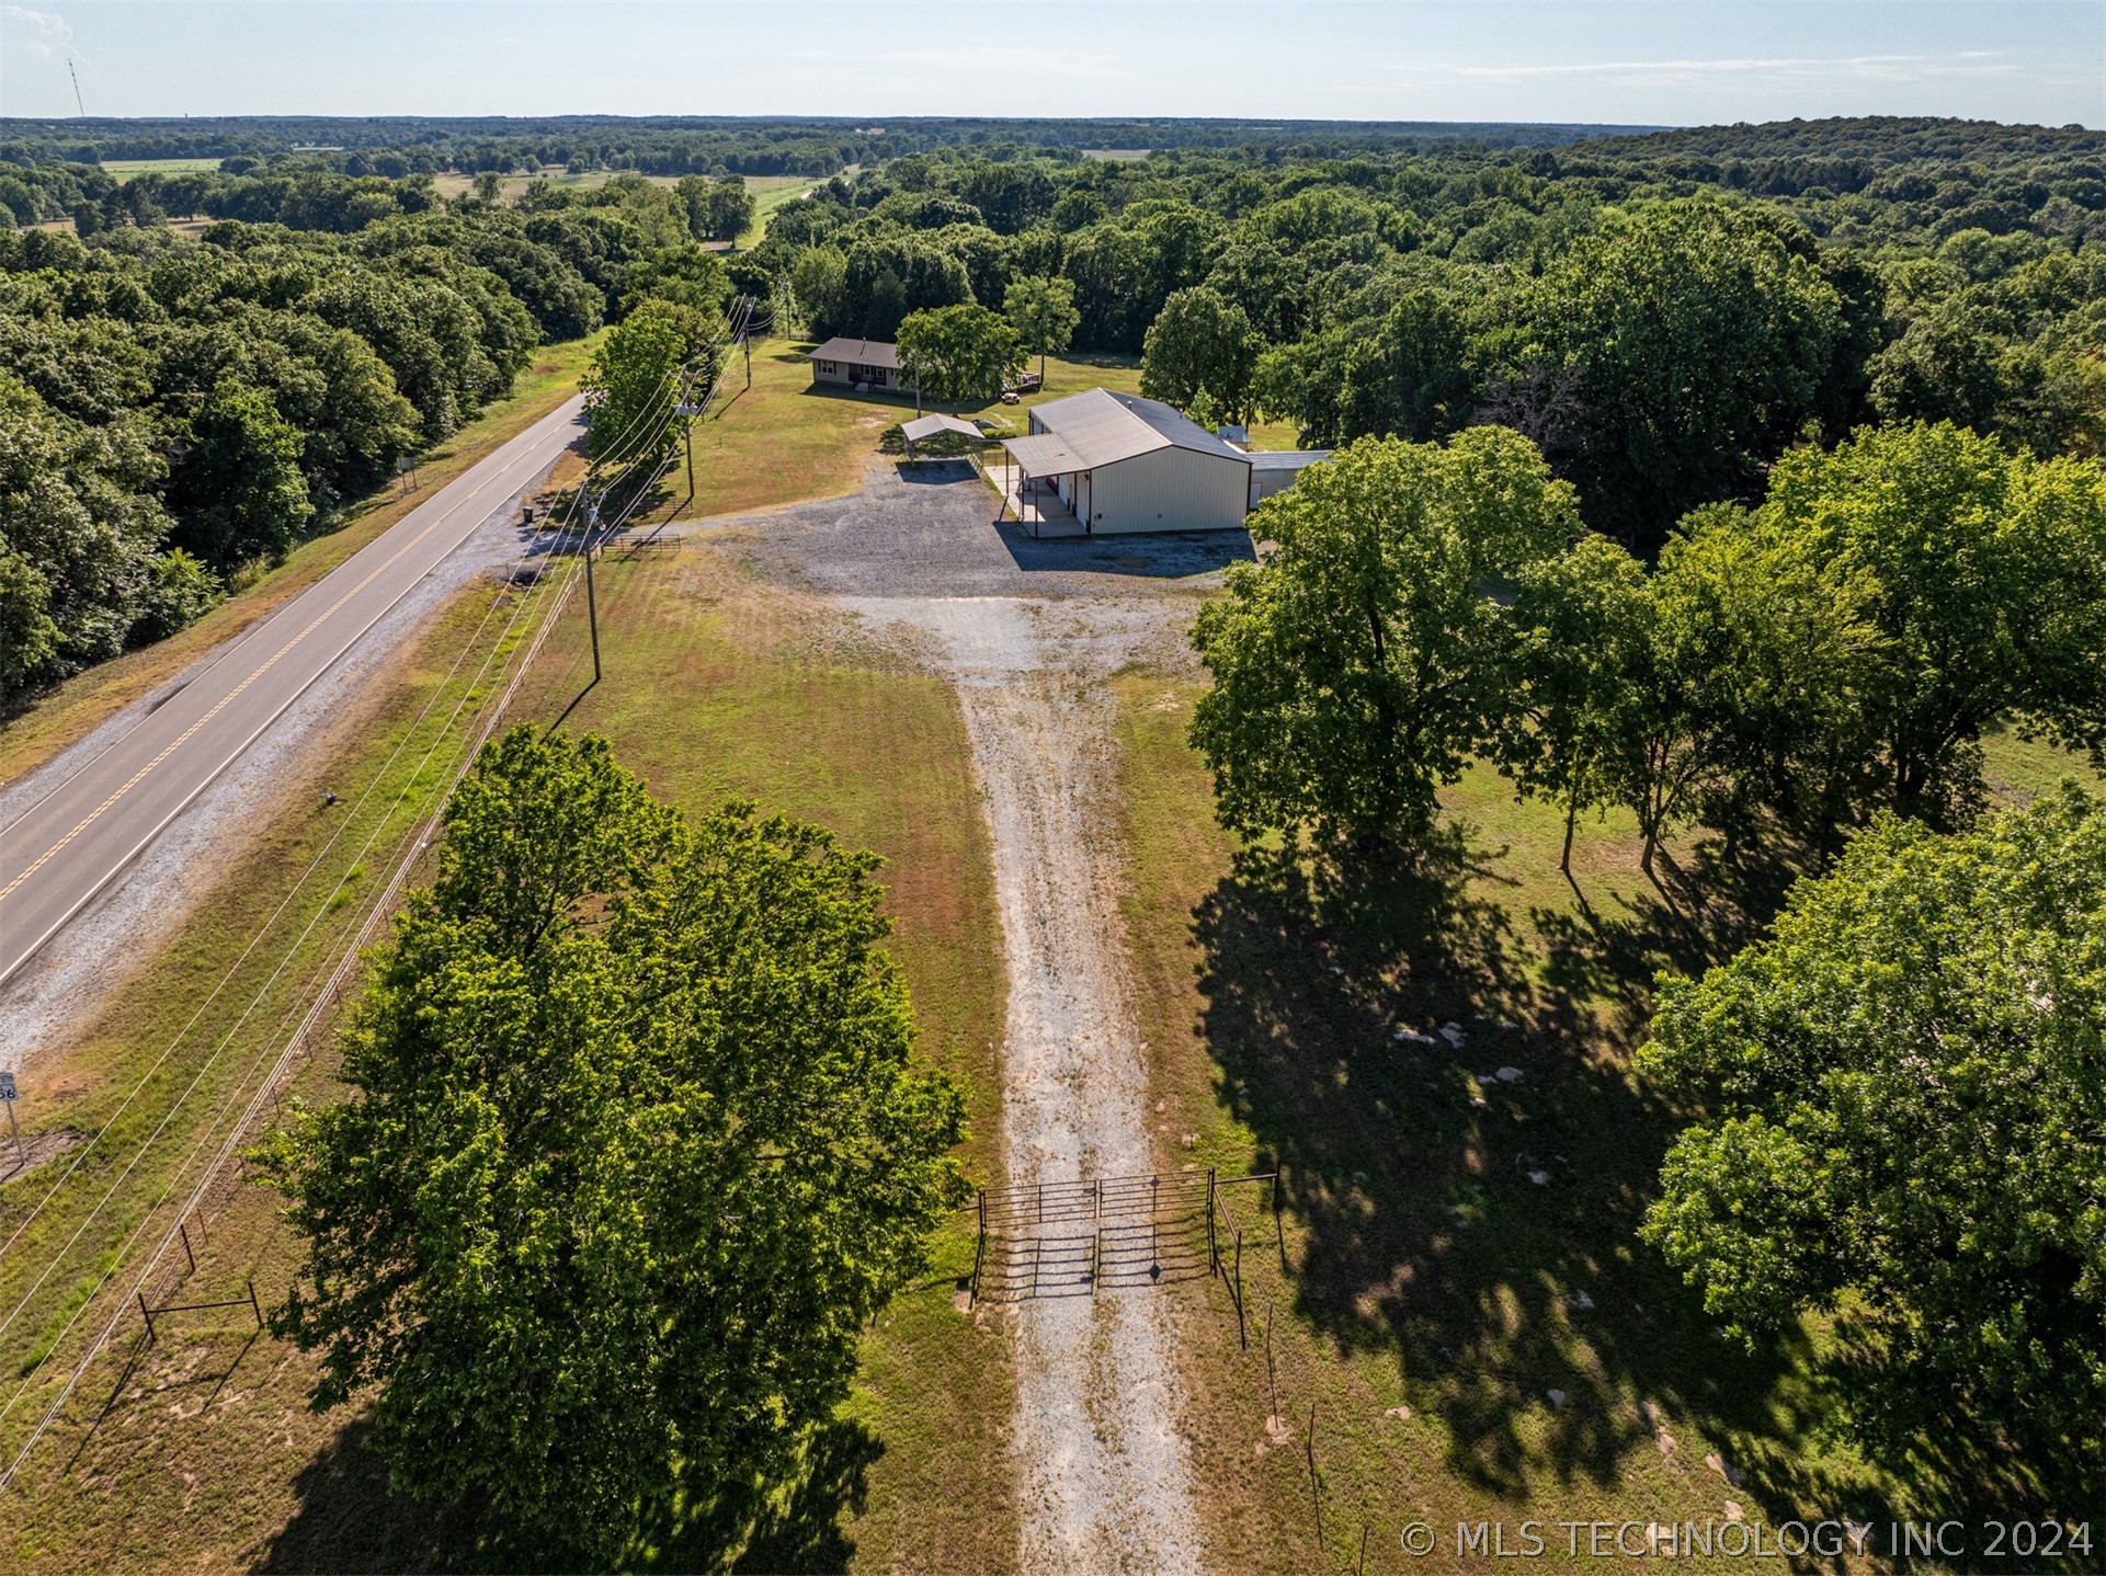
<instances>
[{"instance_id":1,"label":"whole gravel driveway including grey parking area before the metal building","mask_svg":"<svg viewBox=\"0 0 2106 1576\"><path fill-rule=\"evenodd\" d=\"M1036 543L965 465L878 465L863 492L682 528L762 577L903 625L956 688L1009 966L1011 1183L1152 1172L1127 978L1108 680L1184 648L1240 532ZM1165 1294L1017 1305L1011 1429L1028 1572L1196 1572L1203 1540Z\"/></svg>"}]
</instances>

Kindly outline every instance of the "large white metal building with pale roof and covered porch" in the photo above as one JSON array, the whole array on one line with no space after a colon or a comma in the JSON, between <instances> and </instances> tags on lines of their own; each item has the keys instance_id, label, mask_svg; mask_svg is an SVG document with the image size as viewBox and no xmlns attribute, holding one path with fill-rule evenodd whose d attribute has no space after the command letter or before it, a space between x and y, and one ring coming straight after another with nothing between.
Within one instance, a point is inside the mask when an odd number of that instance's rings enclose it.
<instances>
[{"instance_id":1,"label":"large white metal building with pale roof and covered porch","mask_svg":"<svg viewBox=\"0 0 2106 1576\"><path fill-rule=\"evenodd\" d=\"M1236 530L1253 501L1249 454L1137 393L1051 400L1002 448L1017 518L1040 537Z\"/></svg>"}]
</instances>

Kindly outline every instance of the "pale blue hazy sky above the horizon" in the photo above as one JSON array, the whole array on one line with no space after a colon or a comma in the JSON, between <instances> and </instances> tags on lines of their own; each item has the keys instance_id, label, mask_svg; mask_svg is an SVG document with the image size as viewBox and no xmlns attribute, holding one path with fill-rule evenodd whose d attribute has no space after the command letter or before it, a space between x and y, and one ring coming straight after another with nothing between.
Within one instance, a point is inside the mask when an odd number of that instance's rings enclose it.
<instances>
[{"instance_id":1,"label":"pale blue hazy sky above the horizon","mask_svg":"<svg viewBox=\"0 0 2106 1576\"><path fill-rule=\"evenodd\" d=\"M29 0L0 116L2106 126L2106 0Z\"/></svg>"}]
</instances>

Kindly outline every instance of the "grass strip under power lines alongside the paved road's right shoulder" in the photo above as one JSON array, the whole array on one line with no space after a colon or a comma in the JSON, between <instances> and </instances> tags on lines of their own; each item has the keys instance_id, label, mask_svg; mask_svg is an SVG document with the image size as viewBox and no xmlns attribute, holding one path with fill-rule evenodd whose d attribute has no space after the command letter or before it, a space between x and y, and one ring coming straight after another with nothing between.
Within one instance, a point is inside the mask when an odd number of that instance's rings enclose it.
<instances>
[{"instance_id":1,"label":"grass strip under power lines alongside the paved road's right shoulder","mask_svg":"<svg viewBox=\"0 0 2106 1576\"><path fill-rule=\"evenodd\" d=\"M352 1443L356 1418L305 1410L310 1359L259 1336L246 1307L166 1315L147 1345L124 1292L436 808L491 694L491 678L478 682L482 656L516 648L533 612L512 591L480 587L438 617L366 705L257 806L261 835L175 938L112 983L80 1035L25 1079L29 1132L69 1130L82 1145L101 1136L0 1189L0 1235L44 1206L0 1258L0 1309L21 1307L0 1338L8 1458L91 1332L112 1311L120 1317L23 1467L15 1488L38 1513L0 1530L0 1568L154 1572L173 1551L194 1570L335 1565L310 1555L335 1547L343 1528L356 1530L347 1547L358 1561L432 1563L430 1517L385 1496ZM339 806L320 808L324 783ZM310 1044L293 1092L335 1098L329 1021ZM141 1227L139 1250L124 1252ZM253 1284L267 1309L297 1271L299 1246L274 1199L246 1183L192 1218L190 1239L196 1273L175 1248L154 1290L160 1305L244 1300ZM110 1269L110 1288L59 1338ZM25 1374L46 1351L44 1368Z\"/></svg>"}]
</instances>

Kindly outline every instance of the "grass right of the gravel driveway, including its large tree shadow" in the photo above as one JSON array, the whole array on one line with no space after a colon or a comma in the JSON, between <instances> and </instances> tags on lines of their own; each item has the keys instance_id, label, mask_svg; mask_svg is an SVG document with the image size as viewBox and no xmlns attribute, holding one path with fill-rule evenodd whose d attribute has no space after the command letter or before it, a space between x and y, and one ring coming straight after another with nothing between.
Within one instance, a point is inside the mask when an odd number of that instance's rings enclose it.
<instances>
[{"instance_id":1,"label":"grass right of the gravel driveway, including its large tree shadow","mask_svg":"<svg viewBox=\"0 0 2106 1576\"><path fill-rule=\"evenodd\" d=\"M1822 1328L1748 1355L1634 1235L1676 1126L1630 1067L1653 970L1702 968L1752 913L1670 911L1622 814L1580 827L1582 907L1563 819L1489 770L1443 795L1451 835L1415 865L1283 869L1211 819L1184 741L1198 692L1122 680L1120 829L1160 1159L1287 1178L1278 1229L1261 1191L1232 1201L1249 1347L1219 1284L1186 1321L1215 1568L1356 1570L1365 1530L1367 1570L1455 1570L1457 1521L1504 1519L1512 1549L1535 1517L1563 1555L1556 1521L2047 1509L2022 1462L1959 1441L1866 1460ZM2098 783L2011 739L1990 774L2005 802ZM1413 1521L1432 1557L1400 1553Z\"/></svg>"}]
</instances>

